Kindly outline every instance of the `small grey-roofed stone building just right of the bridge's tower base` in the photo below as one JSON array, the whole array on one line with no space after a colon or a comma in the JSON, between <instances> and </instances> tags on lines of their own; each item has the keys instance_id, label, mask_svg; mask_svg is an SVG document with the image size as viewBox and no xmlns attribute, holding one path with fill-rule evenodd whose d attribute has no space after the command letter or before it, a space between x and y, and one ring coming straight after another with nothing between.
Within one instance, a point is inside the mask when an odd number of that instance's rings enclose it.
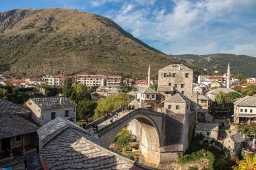
<instances>
[{"instance_id":1,"label":"small grey-roofed stone building just right of the bridge's tower base","mask_svg":"<svg viewBox=\"0 0 256 170\"><path fill-rule=\"evenodd\" d=\"M195 136L203 134L204 142L213 143L218 140L219 124L197 123L195 126Z\"/></svg>"}]
</instances>

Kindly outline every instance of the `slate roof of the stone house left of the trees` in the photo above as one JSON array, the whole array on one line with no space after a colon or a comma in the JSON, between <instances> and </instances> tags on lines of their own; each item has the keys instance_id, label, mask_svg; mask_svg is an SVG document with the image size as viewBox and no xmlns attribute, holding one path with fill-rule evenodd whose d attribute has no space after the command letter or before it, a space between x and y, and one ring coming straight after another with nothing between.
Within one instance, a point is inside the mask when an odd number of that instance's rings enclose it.
<instances>
[{"instance_id":1,"label":"slate roof of the stone house left of the trees","mask_svg":"<svg viewBox=\"0 0 256 170\"><path fill-rule=\"evenodd\" d=\"M30 98L41 110L47 110L52 108L65 108L70 106L76 106L73 101L67 99L67 97L34 97ZM27 101L28 102L28 101Z\"/></svg>"}]
</instances>

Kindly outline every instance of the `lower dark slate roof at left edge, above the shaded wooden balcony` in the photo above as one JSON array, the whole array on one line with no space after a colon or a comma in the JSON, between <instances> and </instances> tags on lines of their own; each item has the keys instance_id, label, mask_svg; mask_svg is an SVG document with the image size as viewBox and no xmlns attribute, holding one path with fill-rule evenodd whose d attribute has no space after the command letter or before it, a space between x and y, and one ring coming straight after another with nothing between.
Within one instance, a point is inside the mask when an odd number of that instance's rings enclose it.
<instances>
[{"instance_id":1,"label":"lower dark slate roof at left edge, above the shaded wooden balcony","mask_svg":"<svg viewBox=\"0 0 256 170\"><path fill-rule=\"evenodd\" d=\"M0 114L0 139L36 132L38 128L18 114Z\"/></svg>"}]
</instances>

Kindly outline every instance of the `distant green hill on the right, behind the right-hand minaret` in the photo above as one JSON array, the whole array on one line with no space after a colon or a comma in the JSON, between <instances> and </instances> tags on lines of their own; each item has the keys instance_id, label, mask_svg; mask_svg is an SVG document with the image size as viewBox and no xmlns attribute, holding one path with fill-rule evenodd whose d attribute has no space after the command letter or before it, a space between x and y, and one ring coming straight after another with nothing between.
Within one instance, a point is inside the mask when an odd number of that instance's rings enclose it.
<instances>
[{"instance_id":1,"label":"distant green hill on the right, behind the right-hand minaret","mask_svg":"<svg viewBox=\"0 0 256 170\"><path fill-rule=\"evenodd\" d=\"M201 69L207 69L209 72L219 71L226 73L228 63L230 63L231 73L241 73L245 77L256 77L256 57L235 54L208 54L193 55L183 54L174 56L187 62L189 65L195 65Z\"/></svg>"}]
</instances>

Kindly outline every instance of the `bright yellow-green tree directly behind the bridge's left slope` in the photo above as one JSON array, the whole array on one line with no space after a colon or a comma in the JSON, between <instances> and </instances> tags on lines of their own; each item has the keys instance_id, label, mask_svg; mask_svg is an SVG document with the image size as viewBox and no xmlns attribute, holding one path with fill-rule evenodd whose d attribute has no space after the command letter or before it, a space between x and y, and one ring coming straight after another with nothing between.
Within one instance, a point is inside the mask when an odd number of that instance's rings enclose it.
<instances>
[{"instance_id":1,"label":"bright yellow-green tree directly behind the bridge's left slope","mask_svg":"<svg viewBox=\"0 0 256 170\"><path fill-rule=\"evenodd\" d=\"M104 116L104 114L107 112L111 112L120 108L121 104L129 104L130 102L130 97L127 95L127 93L119 93L117 95L110 95L106 98L101 98L98 100L98 106L96 110L94 110L94 118L98 119Z\"/></svg>"}]
</instances>

